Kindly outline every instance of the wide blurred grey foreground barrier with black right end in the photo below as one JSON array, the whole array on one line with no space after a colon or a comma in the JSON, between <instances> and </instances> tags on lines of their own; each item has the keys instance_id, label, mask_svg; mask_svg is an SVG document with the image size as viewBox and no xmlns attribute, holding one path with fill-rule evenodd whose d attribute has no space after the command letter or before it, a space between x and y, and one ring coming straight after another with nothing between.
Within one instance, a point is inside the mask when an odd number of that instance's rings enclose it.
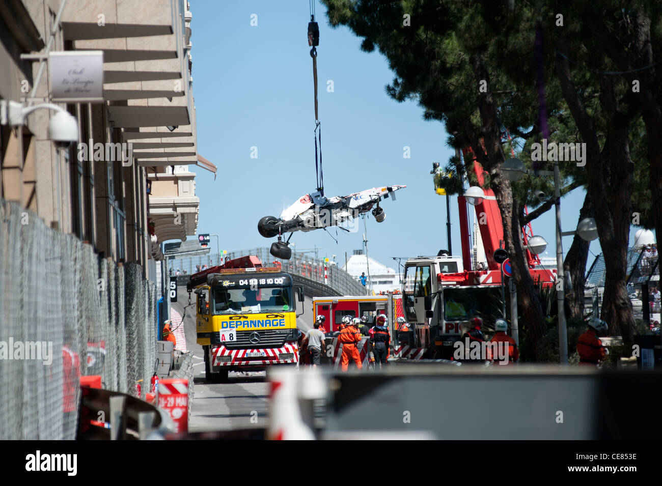
<instances>
[{"instance_id":1,"label":"wide blurred grey foreground barrier with black right end","mask_svg":"<svg viewBox=\"0 0 662 486\"><path fill-rule=\"evenodd\" d=\"M662 405L659 371L421 364L328 379L322 438L641 440L662 432L650 413Z\"/></svg>"}]
</instances>

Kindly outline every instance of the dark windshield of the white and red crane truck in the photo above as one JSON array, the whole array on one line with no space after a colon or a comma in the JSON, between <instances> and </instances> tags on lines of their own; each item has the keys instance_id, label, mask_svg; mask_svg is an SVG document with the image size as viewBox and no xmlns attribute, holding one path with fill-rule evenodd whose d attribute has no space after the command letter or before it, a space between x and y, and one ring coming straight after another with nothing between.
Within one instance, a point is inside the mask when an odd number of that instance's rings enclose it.
<instances>
[{"instance_id":1,"label":"dark windshield of the white and red crane truck","mask_svg":"<svg viewBox=\"0 0 662 486\"><path fill-rule=\"evenodd\" d=\"M466 321L471 317L481 317L486 323L501 317L500 287L444 289L444 320Z\"/></svg>"}]
</instances>

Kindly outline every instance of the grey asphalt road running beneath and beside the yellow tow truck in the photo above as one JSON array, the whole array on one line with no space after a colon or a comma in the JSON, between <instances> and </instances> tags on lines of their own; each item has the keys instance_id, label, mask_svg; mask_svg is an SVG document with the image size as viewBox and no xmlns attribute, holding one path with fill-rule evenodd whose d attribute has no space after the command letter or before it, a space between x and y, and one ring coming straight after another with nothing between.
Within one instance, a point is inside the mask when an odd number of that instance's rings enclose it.
<instances>
[{"instance_id":1,"label":"grey asphalt road running beneath and beside the yellow tow truck","mask_svg":"<svg viewBox=\"0 0 662 486\"><path fill-rule=\"evenodd\" d=\"M193 305L187 307L184 314L188 293L185 287L180 286L177 288L177 302L172 304L184 316L186 345L189 351L193 351L195 374L189 432L265 427L269 398L266 372L230 373L226 384L207 384L205 381L203 348L195 342L195 294L191 297ZM297 313L301 310L301 302L297 302ZM314 322L312 301L308 298L303 302L303 311L303 315L297 318L297 325L306 331Z\"/></svg>"}]
</instances>

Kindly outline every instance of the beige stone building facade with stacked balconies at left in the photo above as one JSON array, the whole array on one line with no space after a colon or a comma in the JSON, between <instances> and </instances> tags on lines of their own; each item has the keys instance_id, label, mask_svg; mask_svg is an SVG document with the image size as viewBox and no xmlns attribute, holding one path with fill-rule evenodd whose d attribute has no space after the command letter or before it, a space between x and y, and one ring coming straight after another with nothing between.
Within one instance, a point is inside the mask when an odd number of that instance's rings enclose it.
<instances>
[{"instance_id":1,"label":"beige stone building facade with stacked balconies at left","mask_svg":"<svg viewBox=\"0 0 662 486\"><path fill-rule=\"evenodd\" d=\"M196 174L187 166L216 171L197 154L191 19L185 0L0 7L2 100L51 102L49 54L103 52L103 101L59 104L77 120L78 140L68 149L48 138L54 110L1 126L0 197L101 257L139 264L145 278L154 278L148 261L162 259L160 243L196 232ZM116 147L124 161L113 157Z\"/></svg>"}]
</instances>

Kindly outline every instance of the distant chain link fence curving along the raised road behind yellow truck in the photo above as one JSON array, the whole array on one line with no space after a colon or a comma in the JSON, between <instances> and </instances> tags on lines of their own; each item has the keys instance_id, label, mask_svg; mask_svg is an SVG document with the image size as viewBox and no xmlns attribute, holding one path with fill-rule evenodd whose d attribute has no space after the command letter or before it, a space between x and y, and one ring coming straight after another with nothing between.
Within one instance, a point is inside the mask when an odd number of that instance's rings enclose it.
<instances>
[{"instance_id":1,"label":"distant chain link fence curving along the raised road behind yellow truck","mask_svg":"<svg viewBox=\"0 0 662 486\"><path fill-rule=\"evenodd\" d=\"M236 259L239 257L246 257L248 255L256 255L264 266L277 265L280 266L283 272L296 274L318 282L326 284L336 290L342 296L365 296L367 290L356 278L348 274L345 270L338 268L336 265L326 263L326 279L324 278L324 259L316 259L307 253L297 253L292 251L292 257L289 260L282 260L273 257L266 247L252 248L248 250L228 251L225 255L210 253L201 257L185 257L183 259L173 259L168 261L168 268L172 274L177 270L181 274L194 274L198 270L197 266L207 264L207 266L214 266L223 263L225 259ZM220 262L220 263L219 263Z\"/></svg>"}]
</instances>

